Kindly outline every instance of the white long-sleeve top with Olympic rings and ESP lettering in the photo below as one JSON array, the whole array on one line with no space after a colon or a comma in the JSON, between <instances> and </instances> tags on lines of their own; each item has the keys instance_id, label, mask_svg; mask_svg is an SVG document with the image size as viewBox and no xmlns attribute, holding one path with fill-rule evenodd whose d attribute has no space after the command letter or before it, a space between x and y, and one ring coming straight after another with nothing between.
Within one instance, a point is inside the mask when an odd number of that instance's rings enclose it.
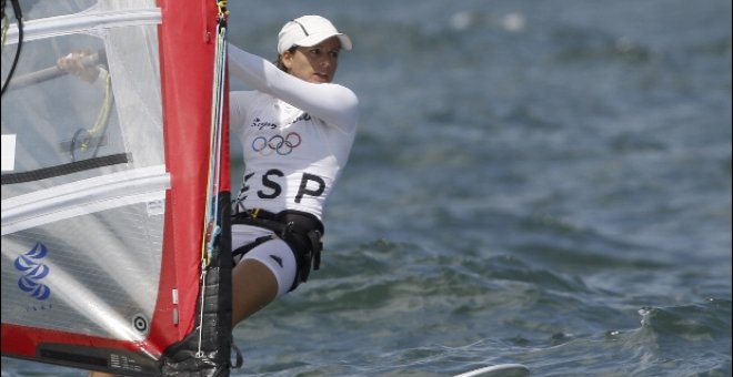
<instances>
[{"instance_id":1,"label":"white long-sleeve top with Olympic rings and ESP lettering","mask_svg":"<svg viewBox=\"0 0 733 377\"><path fill-rule=\"evenodd\" d=\"M229 99L245 165L239 210L298 210L321 218L354 141L357 95L298 79L232 44L229 72L254 89Z\"/></svg>"}]
</instances>

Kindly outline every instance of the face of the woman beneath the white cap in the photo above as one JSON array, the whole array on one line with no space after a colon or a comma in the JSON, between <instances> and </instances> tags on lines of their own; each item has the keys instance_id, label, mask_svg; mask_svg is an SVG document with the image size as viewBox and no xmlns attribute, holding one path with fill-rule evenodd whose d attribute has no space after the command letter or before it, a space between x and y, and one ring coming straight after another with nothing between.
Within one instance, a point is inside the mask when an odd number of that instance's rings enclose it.
<instances>
[{"instance_id":1,"label":"face of the woman beneath the white cap","mask_svg":"<svg viewBox=\"0 0 733 377\"><path fill-rule=\"evenodd\" d=\"M313 47L298 47L294 52L285 51L282 63L290 74L312 83L333 81L339 68L341 41L331 37Z\"/></svg>"}]
</instances>

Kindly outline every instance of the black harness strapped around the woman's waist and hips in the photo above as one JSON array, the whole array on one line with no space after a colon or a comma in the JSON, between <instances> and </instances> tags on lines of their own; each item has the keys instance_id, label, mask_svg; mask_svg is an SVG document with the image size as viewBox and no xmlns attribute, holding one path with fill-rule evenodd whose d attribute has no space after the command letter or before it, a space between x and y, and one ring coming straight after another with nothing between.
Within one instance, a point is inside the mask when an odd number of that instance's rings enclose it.
<instances>
[{"instance_id":1,"label":"black harness strapped around the woman's waist and hips","mask_svg":"<svg viewBox=\"0 0 733 377\"><path fill-rule=\"evenodd\" d=\"M232 256L244 255L254 247L274 238L284 241L295 256L298 268L290 291L305 283L313 269L321 268L323 223L314 215L295 210L272 213L261 208L238 212L232 216L232 225L251 225L272 231L272 235L255 238L253 242L232 251Z\"/></svg>"}]
</instances>

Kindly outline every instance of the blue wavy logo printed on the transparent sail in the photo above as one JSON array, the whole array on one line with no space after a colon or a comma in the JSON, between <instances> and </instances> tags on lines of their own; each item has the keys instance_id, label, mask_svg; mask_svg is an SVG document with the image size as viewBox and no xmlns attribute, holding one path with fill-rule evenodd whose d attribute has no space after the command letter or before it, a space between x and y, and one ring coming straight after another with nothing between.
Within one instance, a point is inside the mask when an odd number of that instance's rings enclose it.
<instances>
[{"instance_id":1,"label":"blue wavy logo printed on the transparent sail","mask_svg":"<svg viewBox=\"0 0 733 377\"><path fill-rule=\"evenodd\" d=\"M16 269L23 274L18 279L18 287L38 300L46 300L51 296L51 289L41 283L51 271L43 264L43 258L48 253L46 245L39 242L28 253L17 257L13 263Z\"/></svg>"}]
</instances>

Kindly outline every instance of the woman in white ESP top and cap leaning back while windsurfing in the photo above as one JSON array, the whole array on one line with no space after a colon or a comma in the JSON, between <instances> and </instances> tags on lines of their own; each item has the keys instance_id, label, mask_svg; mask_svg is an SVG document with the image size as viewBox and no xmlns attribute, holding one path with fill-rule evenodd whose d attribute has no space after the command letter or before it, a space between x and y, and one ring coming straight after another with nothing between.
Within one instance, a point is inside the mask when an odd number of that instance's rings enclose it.
<instances>
[{"instance_id":1,"label":"woman in white ESP top and cap leaning back while windsurfing","mask_svg":"<svg viewBox=\"0 0 733 377\"><path fill-rule=\"evenodd\" d=\"M230 45L230 73L254 89L230 95L245 164L232 220L233 325L319 267L323 205L359 118L357 95L331 83L341 50L351 48L320 16L285 23L274 64Z\"/></svg>"}]
</instances>

